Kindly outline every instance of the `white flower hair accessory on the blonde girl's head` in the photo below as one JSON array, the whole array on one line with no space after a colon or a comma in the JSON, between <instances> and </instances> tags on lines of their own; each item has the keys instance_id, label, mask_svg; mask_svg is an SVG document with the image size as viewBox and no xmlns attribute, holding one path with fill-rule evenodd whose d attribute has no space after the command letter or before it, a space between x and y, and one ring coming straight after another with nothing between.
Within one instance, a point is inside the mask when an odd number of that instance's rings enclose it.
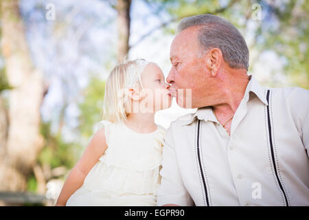
<instances>
[{"instance_id":1,"label":"white flower hair accessory on the blonde girl's head","mask_svg":"<svg viewBox=\"0 0 309 220\"><path fill-rule=\"evenodd\" d=\"M132 65L128 67L128 73L126 78L126 87L127 88L133 88L135 83L139 80L141 77L141 73L144 71L146 65L148 65L148 61L145 61L144 59L139 59Z\"/></svg>"}]
</instances>

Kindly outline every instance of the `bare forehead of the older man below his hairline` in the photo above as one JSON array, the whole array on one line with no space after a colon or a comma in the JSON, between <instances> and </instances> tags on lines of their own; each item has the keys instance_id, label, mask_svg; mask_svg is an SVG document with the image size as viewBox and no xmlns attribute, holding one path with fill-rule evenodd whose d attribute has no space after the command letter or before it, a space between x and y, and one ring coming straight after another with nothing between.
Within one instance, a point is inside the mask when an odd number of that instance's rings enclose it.
<instances>
[{"instance_id":1,"label":"bare forehead of the older man below his hairline","mask_svg":"<svg viewBox=\"0 0 309 220\"><path fill-rule=\"evenodd\" d=\"M188 50L197 50L197 34L197 26L179 32L170 46L170 60L185 55Z\"/></svg>"}]
</instances>

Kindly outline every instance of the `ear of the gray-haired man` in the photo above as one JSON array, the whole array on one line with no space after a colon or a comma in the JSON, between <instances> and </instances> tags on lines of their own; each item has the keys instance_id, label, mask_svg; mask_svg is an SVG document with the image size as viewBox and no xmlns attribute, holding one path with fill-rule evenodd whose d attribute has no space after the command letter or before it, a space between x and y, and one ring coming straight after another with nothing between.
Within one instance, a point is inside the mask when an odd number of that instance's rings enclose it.
<instances>
[{"instance_id":1,"label":"ear of the gray-haired man","mask_svg":"<svg viewBox=\"0 0 309 220\"><path fill-rule=\"evenodd\" d=\"M218 74L220 65L222 63L222 52L218 48L212 48L207 53L207 69L209 70L212 77Z\"/></svg>"}]
</instances>

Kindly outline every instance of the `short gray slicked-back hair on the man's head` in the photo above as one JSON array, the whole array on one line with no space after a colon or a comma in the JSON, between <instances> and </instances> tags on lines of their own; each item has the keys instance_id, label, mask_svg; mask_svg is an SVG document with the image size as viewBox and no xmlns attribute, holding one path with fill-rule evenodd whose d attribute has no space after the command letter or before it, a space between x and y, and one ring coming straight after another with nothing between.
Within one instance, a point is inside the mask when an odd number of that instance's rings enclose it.
<instances>
[{"instance_id":1,"label":"short gray slicked-back hair on the man's head","mask_svg":"<svg viewBox=\"0 0 309 220\"><path fill-rule=\"evenodd\" d=\"M248 70L247 43L234 25L213 14L201 14L182 19L178 32L197 25L201 25L198 42L203 46L203 54L214 47L219 48L229 67Z\"/></svg>"}]
</instances>

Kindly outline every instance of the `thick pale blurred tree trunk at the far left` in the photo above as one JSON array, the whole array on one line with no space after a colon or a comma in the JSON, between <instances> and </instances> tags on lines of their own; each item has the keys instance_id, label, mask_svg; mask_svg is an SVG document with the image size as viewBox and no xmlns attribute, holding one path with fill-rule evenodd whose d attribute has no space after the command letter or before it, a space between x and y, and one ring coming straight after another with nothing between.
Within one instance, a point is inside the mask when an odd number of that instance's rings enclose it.
<instances>
[{"instance_id":1,"label":"thick pale blurred tree trunk at the far left","mask_svg":"<svg viewBox=\"0 0 309 220\"><path fill-rule=\"evenodd\" d=\"M27 176L43 147L40 135L43 76L32 65L19 1L1 0L0 19L5 70L8 83L14 87L9 97L8 140L0 158L0 190L25 190Z\"/></svg>"}]
</instances>

